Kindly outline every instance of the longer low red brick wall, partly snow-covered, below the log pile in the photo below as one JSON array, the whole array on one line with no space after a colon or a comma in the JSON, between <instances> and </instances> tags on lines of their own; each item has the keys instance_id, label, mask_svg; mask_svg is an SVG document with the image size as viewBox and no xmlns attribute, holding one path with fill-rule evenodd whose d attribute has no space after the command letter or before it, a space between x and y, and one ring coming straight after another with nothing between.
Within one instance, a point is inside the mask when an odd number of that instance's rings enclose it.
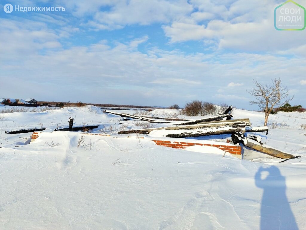
<instances>
[{"instance_id":1,"label":"longer low red brick wall, partly snow-covered, below the log pile","mask_svg":"<svg viewBox=\"0 0 306 230\"><path fill-rule=\"evenodd\" d=\"M226 144L205 144L205 143L192 143L192 142L177 142L177 141L169 141L169 140L152 140L154 141L157 145L162 145L170 148L186 148L188 146L194 146L194 145L200 145L200 146L211 146L211 147L216 147L219 148L223 151L227 151L231 154L238 154L241 155L241 146L239 145L226 145Z\"/></svg>"}]
</instances>

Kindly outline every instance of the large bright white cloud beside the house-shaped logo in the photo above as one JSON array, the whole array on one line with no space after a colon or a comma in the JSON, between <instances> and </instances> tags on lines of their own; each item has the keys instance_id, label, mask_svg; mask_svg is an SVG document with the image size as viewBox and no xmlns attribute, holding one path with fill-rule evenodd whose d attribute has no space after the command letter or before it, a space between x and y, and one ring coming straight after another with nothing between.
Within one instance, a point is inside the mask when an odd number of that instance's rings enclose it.
<instances>
[{"instance_id":1,"label":"large bright white cloud beside the house-shaped logo","mask_svg":"<svg viewBox=\"0 0 306 230\"><path fill-rule=\"evenodd\" d=\"M305 44L304 32L279 33L274 28L271 12L278 5L276 1L238 0L217 5L207 0L191 4L198 11L162 27L171 43L202 40L210 48L242 52L279 52ZM207 44L207 40L214 44Z\"/></svg>"}]
</instances>

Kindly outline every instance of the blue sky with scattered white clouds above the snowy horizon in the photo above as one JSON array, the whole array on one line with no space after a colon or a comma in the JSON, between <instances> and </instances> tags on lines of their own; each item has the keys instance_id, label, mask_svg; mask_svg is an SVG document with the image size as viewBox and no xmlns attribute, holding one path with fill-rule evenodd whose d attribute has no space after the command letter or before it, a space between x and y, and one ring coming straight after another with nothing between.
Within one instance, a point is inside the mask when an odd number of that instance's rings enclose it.
<instances>
[{"instance_id":1,"label":"blue sky with scattered white clouds above the snowy horizon","mask_svg":"<svg viewBox=\"0 0 306 230\"><path fill-rule=\"evenodd\" d=\"M253 79L281 78L306 107L306 29L274 28L283 0L0 2L0 97L257 109ZM6 3L65 11L5 13Z\"/></svg>"}]
</instances>

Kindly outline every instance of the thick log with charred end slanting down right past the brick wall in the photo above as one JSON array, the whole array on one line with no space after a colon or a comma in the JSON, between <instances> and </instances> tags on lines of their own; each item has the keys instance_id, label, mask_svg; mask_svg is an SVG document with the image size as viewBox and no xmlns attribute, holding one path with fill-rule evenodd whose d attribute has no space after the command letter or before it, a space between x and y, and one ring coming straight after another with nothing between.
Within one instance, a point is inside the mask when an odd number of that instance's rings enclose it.
<instances>
[{"instance_id":1,"label":"thick log with charred end slanting down right past the brick wall","mask_svg":"<svg viewBox=\"0 0 306 230\"><path fill-rule=\"evenodd\" d=\"M278 158L282 158L282 159L287 159L287 158L292 158L294 157L293 155L289 154L289 153L285 153L282 152L278 149L272 148L271 146L268 146L266 144L261 144L259 142L257 142L256 140L252 140L250 138L244 137L243 133L241 132L237 132L237 133L233 133L232 134L232 141L233 143L237 144L237 143L241 143L244 146L248 147L248 148L252 148L254 150L257 150L259 152L274 156L274 157L278 157Z\"/></svg>"}]
</instances>

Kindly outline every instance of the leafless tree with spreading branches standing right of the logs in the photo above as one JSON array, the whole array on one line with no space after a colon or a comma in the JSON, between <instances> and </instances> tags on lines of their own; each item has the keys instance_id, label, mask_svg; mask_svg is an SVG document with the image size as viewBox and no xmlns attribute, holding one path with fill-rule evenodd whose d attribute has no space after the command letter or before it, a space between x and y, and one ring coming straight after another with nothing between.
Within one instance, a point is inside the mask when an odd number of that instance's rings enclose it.
<instances>
[{"instance_id":1,"label":"leafless tree with spreading branches standing right of the logs","mask_svg":"<svg viewBox=\"0 0 306 230\"><path fill-rule=\"evenodd\" d=\"M258 105L265 112L264 125L266 126L274 106L281 107L285 105L293 99L293 96L289 97L287 87L282 85L280 78L275 78L269 85L259 83L257 80L254 80L254 84L256 87L253 87L252 90L247 90L249 94L256 98L255 101L250 101L250 103L251 105Z\"/></svg>"}]
</instances>

